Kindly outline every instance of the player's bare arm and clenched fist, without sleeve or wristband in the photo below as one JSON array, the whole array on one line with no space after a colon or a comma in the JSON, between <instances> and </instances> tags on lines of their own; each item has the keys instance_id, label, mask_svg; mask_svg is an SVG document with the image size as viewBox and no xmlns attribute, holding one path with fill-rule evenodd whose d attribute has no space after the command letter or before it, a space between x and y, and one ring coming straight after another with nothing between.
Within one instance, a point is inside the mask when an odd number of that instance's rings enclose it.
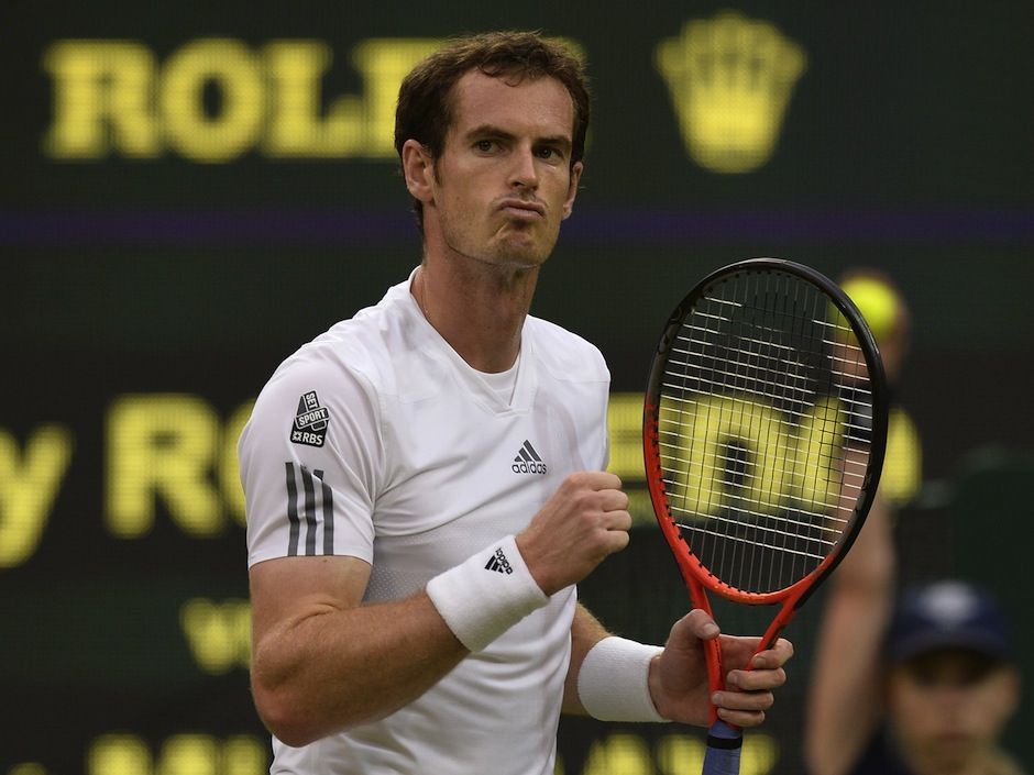
<instances>
[{"instance_id":1,"label":"player's bare arm and clenched fist, without sleeve or wristband","mask_svg":"<svg viewBox=\"0 0 1034 775\"><path fill-rule=\"evenodd\" d=\"M605 472L563 481L516 538L530 584L552 595L625 547L631 517L619 487ZM470 653L426 590L363 605L370 569L351 556L279 557L251 568L255 705L288 745L393 713ZM453 572L462 566L446 574ZM488 600L483 613L491 608Z\"/></svg>"}]
</instances>

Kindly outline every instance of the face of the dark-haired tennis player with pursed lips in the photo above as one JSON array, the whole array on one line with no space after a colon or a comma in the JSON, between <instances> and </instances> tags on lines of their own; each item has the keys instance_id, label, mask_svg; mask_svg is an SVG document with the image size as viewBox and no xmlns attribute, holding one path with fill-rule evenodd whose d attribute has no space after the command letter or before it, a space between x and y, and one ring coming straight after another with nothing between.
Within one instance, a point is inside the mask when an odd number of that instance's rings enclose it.
<instances>
[{"instance_id":1,"label":"face of the dark-haired tennis player with pursed lips","mask_svg":"<svg viewBox=\"0 0 1034 775\"><path fill-rule=\"evenodd\" d=\"M425 223L436 220L431 228L454 253L497 266L541 265L582 170L571 167L571 96L554 78L513 84L475 70L460 78L453 99Z\"/></svg>"}]
</instances>

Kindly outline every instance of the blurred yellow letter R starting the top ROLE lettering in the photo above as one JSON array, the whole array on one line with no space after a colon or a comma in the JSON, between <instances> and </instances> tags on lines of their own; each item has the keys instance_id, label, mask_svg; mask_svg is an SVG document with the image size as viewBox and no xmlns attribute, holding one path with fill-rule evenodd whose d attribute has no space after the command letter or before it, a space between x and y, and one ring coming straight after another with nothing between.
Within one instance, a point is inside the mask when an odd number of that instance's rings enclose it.
<instances>
[{"instance_id":1,"label":"blurred yellow letter R starting the top ROLE lettering","mask_svg":"<svg viewBox=\"0 0 1034 775\"><path fill-rule=\"evenodd\" d=\"M55 158L100 158L161 152L151 109L154 56L131 41L59 41L43 67L54 81L54 120L44 148Z\"/></svg>"}]
</instances>

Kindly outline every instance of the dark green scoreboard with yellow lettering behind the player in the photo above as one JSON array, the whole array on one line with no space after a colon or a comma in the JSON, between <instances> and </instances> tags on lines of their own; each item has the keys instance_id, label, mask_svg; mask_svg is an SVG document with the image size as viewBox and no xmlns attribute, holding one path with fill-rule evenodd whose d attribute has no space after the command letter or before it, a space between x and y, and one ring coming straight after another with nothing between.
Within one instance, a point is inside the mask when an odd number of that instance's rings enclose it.
<instances>
[{"instance_id":1,"label":"dark green scoreboard with yellow lettering behind the player","mask_svg":"<svg viewBox=\"0 0 1034 775\"><path fill-rule=\"evenodd\" d=\"M1032 22L1019 0L6 3L0 775L267 771L237 436L284 357L419 262L394 90L438 41L486 29L542 29L587 60L583 186L532 312L607 357L629 490L652 347L696 280L761 255L883 272L913 321L902 580L990 584L1030 672ZM661 642L689 604L634 502L630 547L582 596ZM800 771L821 610L788 633L790 684L745 775ZM1027 762L1031 721L1024 701L1009 729ZM694 772L700 740L564 720L561 770Z\"/></svg>"}]
</instances>

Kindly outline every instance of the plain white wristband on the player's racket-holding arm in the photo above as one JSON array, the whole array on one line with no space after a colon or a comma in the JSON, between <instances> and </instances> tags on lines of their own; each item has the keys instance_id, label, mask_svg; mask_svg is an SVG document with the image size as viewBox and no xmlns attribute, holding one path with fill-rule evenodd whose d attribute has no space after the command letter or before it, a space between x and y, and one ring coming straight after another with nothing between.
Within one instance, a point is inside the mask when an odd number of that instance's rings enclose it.
<instances>
[{"instance_id":1,"label":"plain white wristband on the player's racket-holding arm","mask_svg":"<svg viewBox=\"0 0 1034 775\"><path fill-rule=\"evenodd\" d=\"M601 721L667 721L657 712L647 682L661 646L610 635L596 643L578 674L582 707Z\"/></svg>"}]
</instances>

